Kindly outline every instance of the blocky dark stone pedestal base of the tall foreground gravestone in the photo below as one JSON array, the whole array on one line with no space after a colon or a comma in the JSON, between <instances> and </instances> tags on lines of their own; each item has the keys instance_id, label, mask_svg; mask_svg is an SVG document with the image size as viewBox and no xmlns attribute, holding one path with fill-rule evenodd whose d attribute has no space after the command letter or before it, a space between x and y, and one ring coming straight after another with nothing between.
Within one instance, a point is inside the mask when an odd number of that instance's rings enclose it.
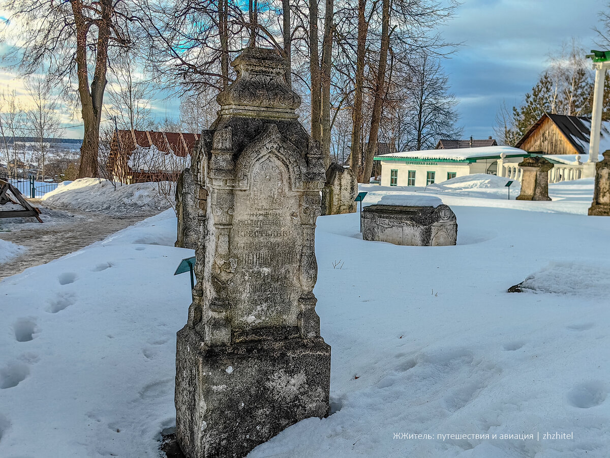
<instances>
[{"instance_id":1,"label":"blocky dark stone pedestal base of the tall foreground gravestone","mask_svg":"<svg viewBox=\"0 0 610 458\"><path fill-rule=\"evenodd\" d=\"M176 438L188 458L243 457L328 415L331 347L321 338L207 347L184 327L176 355Z\"/></svg>"}]
</instances>

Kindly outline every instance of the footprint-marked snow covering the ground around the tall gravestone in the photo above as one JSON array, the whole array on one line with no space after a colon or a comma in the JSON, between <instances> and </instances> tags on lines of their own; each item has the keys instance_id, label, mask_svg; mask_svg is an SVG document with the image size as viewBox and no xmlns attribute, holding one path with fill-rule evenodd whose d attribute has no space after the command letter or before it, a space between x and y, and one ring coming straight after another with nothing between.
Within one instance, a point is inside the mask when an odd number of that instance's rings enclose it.
<instances>
[{"instance_id":1,"label":"footprint-marked snow covering the ground around the tall gravestone","mask_svg":"<svg viewBox=\"0 0 610 458\"><path fill-rule=\"evenodd\" d=\"M586 216L590 179L550 185L553 202L513 200L518 183L507 200L505 181L362 186L365 205L442 198L453 247L318 218L332 415L249 457L608 456L610 218ZM0 283L0 456L159 456L190 303L175 239L170 209Z\"/></svg>"}]
</instances>

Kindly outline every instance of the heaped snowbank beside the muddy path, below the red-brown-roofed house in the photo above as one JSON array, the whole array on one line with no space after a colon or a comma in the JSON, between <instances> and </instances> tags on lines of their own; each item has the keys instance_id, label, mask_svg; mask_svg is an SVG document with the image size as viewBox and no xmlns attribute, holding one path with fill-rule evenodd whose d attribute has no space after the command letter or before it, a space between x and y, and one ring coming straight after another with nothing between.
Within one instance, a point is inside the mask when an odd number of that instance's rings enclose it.
<instances>
[{"instance_id":1,"label":"heaped snowbank beside the muddy path, below the red-brown-roofed house","mask_svg":"<svg viewBox=\"0 0 610 458\"><path fill-rule=\"evenodd\" d=\"M64 183L45 194L43 202L63 208L127 215L164 210L174 200L174 186L167 182L115 186L107 180L81 178Z\"/></svg>"}]
</instances>

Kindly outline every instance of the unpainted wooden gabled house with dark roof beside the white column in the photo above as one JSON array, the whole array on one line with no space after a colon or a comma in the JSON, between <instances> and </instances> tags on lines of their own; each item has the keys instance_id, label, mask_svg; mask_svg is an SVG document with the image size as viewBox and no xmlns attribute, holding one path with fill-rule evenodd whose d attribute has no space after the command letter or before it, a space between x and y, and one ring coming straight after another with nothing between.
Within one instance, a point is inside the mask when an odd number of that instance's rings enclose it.
<instances>
[{"instance_id":1,"label":"unpainted wooden gabled house with dark roof beside the white column","mask_svg":"<svg viewBox=\"0 0 610 458\"><path fill-rule=\"evenodd\" d=\"M515 147L531 153L589 154L590 132L590 118L544 114ZM610 143L610 121L601 123L600 145L607 143Z\"/></svg>"}]
</instances>

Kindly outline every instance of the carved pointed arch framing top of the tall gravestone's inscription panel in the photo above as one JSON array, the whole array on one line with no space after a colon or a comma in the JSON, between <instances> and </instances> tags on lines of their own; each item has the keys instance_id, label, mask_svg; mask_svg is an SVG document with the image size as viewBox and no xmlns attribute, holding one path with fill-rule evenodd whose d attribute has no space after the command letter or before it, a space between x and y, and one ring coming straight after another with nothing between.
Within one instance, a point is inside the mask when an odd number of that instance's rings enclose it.
<instances>
[{"instance_id":1,"label":"carved pointed arch framing top of the tall gravestone's inscription panel","mask_svg":"<svg viewBox=\"0 0 610 458\"><path fill-rule=\"evenodd\" d=\"M292 191L304 189L304 175L307 173L305 159L300 151L279 133L275 124L265 125L263 133L244 148L235 162L235 170L239 170L238 175L235 176L235 189L251 188L251 173L254 165L261 159L264 160L265 156L273 156L284 165L288 171L287 178Z\"/></svg>"}]
</instances>

